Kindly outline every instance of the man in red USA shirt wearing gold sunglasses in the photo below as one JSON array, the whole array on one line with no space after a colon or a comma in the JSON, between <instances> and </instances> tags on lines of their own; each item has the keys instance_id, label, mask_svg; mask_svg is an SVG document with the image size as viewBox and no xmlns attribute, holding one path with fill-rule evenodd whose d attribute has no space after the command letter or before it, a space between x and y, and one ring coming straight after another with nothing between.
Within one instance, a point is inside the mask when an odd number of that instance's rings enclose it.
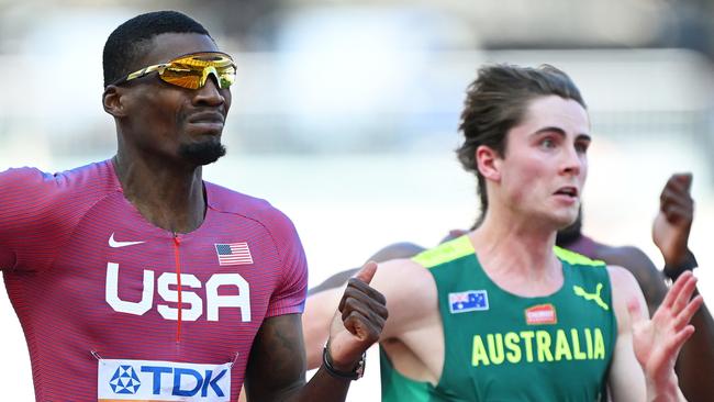
<instances>
[{"instance_id":1,"label":"man in red USA shirt wearing gold sunglasses","mask_svg":"<svg viewBox=\"0 0 714 402\"><path fill-rule=\"evenodd\" d=\"M170 11L120 25L103 54L110 160L0 174L0 268L37 401L344 401L387 312L350 281L305 384L305 256L268 202L201 179L225 154L235 78L208 31ZM359 300L359 310L354 301Z\"/></svg>"}]
</instances>

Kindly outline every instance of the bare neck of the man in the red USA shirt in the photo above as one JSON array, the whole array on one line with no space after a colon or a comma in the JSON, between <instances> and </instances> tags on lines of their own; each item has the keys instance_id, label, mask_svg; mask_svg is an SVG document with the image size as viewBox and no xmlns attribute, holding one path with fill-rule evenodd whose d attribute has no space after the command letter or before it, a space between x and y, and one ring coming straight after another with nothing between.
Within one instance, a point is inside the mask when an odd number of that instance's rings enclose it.
<instances>
[{"instance_id":1,"label":"bare neck of the man in the red USA shirt","mask_svg":"<svg viewBox=\"0 0 714 402\"><path fill-rule=\"evenodd\" d=\"M172 233L197 230L205 216L201 167L181 168L149 158L112 158L124 197L152 224Z\"/></svg>"}]
</instances>

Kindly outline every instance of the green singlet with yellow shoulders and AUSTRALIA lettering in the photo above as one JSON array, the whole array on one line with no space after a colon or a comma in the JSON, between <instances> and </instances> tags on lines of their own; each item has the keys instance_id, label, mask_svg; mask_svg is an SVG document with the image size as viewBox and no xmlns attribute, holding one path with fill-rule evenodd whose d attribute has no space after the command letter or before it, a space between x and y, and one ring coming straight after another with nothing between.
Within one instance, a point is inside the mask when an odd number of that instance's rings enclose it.
<instances>
[{"instance_id":1,"label":"green singlet with yellow shoulders and AUSTRALIA lettering","mask_svg":"<svg viewBox=\"0 0 714 402\"><path fill-rule=\"evenodd\" d=\"M445 361L436 387L381 351L382 401L604 401L617 336L605 265L557 248L564 284L522 298L484 273L468 237L413 258L433 275ZM414 294L419 297L419 294Z\"/></svg>"}]
</instances>

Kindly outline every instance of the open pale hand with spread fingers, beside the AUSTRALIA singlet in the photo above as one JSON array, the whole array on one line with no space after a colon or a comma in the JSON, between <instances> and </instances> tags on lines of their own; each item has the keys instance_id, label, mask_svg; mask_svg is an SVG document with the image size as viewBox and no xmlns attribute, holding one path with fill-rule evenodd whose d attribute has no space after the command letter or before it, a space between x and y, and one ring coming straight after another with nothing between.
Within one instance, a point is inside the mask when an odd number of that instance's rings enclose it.
<instances>
[{"instance_id":1,"label":"open pale hand with spread fingers, beside the AUSTRALIA singlet","mask_svg":"<svg viewBox=\"0 0 714 402\"><path fill-rule=\"evenodd\" d=\"M682 273L650 320L645 319L636 300L627 304L633 317L635 356L654 383L670 379L682 345L694 333L689 322L703 302L701 295L690 300L695 286L692 272Z\"/></svg>"}]
</instances>

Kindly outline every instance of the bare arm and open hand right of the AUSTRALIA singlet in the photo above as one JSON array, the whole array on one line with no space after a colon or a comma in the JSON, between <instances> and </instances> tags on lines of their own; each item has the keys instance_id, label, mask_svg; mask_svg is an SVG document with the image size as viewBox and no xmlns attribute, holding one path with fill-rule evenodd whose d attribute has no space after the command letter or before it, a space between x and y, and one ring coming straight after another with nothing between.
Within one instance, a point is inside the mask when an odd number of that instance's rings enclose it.
<instances>
[{"instance_id":1,"label":"bare arm and open hand right of the AUSTRALIA singlet","mask_svg":"<svg viewBox=\"0 0 714 402\"><path fill-rule=\"evenodd\" d=\"M617 343L610 372L614 401L684 400L674 362L694 328L689 324L702 298L692 300L696 279L688 272L670 289L662 304L647 319L642 290L629 271L609 267Z\"/></svg>"}]
</instances>

